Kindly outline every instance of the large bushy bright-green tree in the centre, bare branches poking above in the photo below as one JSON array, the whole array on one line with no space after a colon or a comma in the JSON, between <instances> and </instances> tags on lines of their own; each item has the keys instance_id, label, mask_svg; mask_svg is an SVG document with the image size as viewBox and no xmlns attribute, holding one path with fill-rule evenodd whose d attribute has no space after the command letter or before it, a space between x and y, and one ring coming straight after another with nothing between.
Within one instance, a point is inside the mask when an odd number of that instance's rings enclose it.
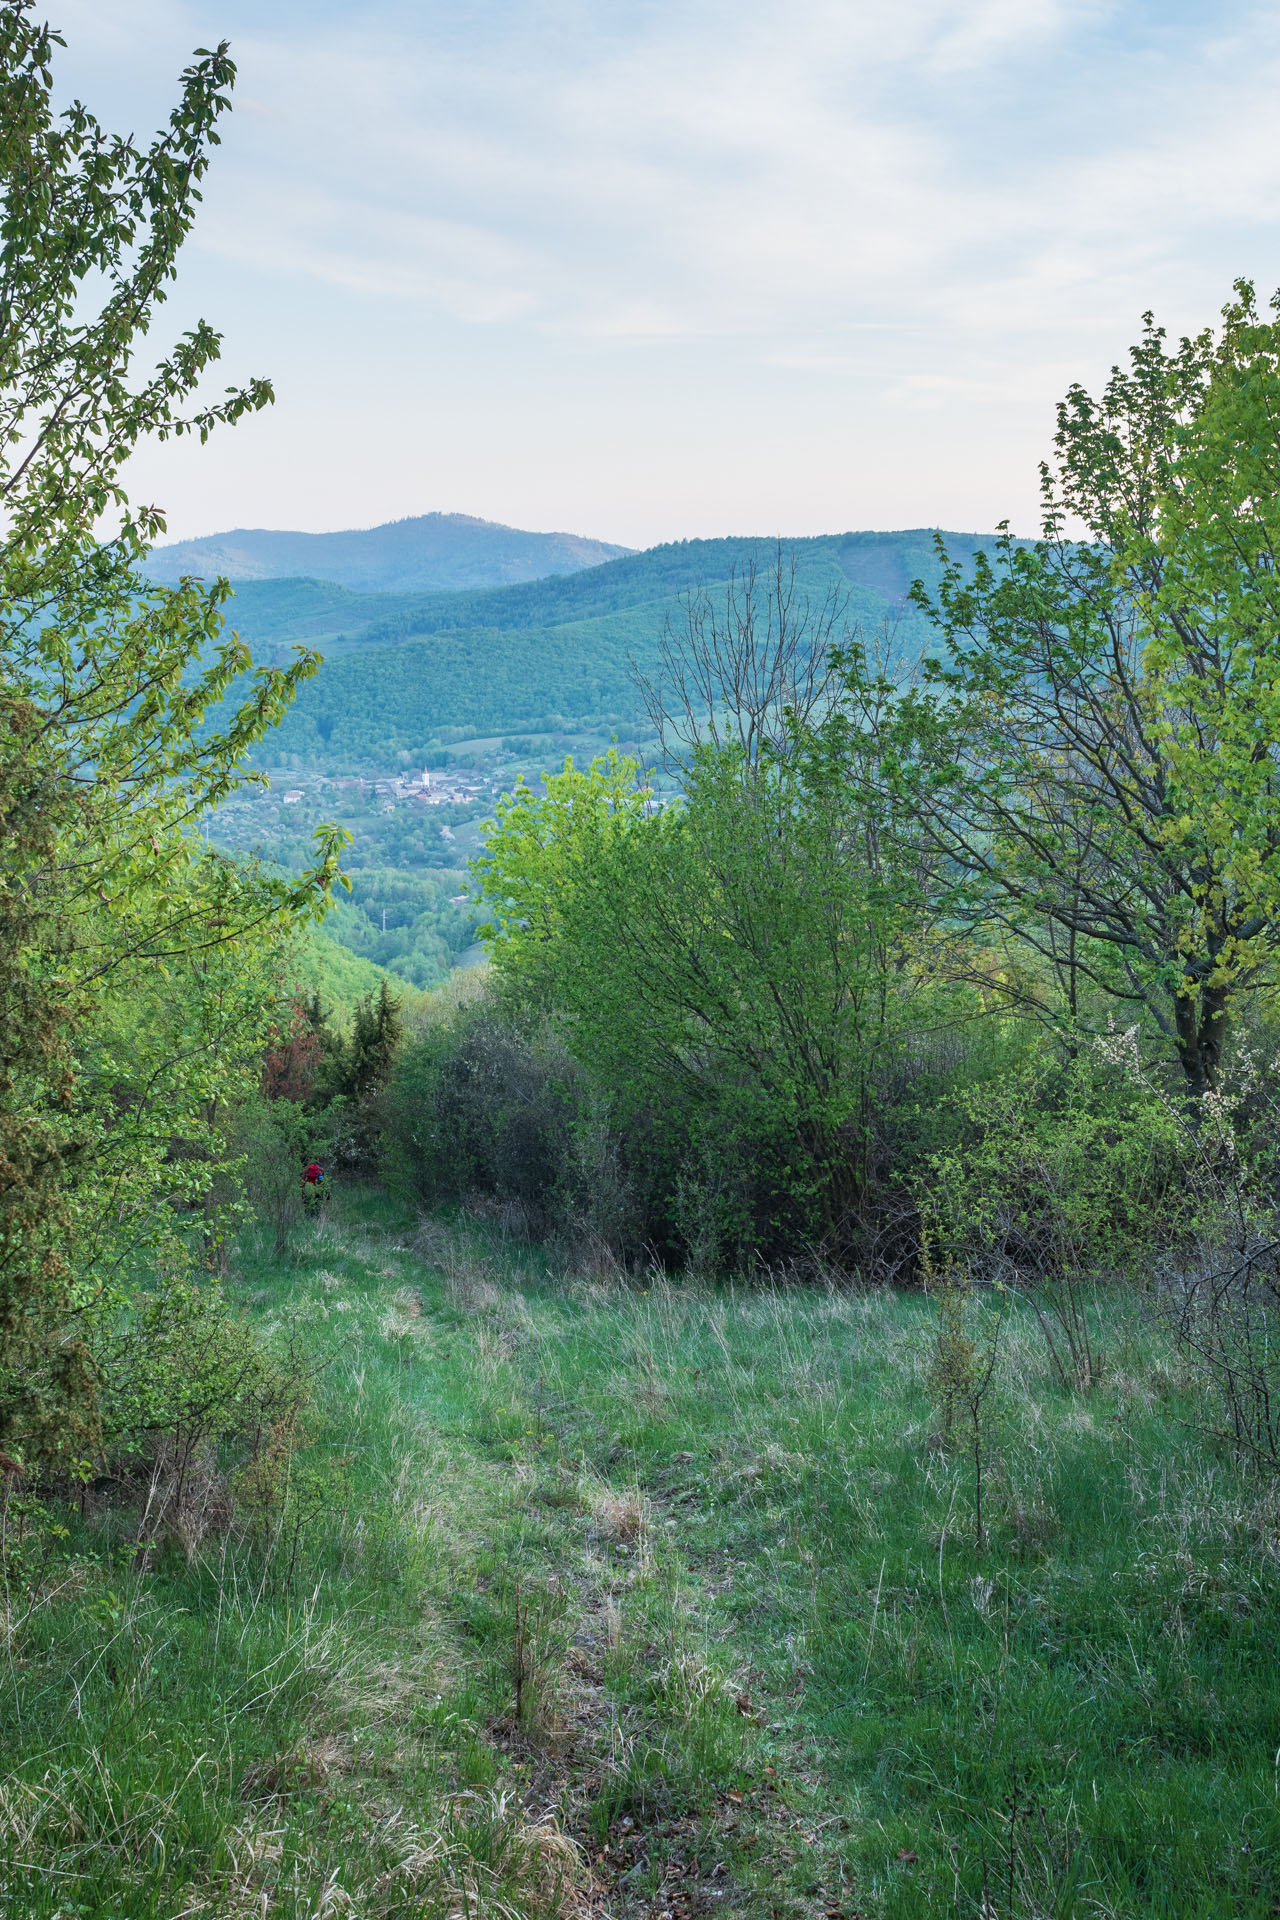
<instances>
[{"instance_id":1,"label":"large bushy bright-green tree in the centre, bare branches poking above","mask_svg":"<svg viewBox=\"0 0 1280 1920\"><path fill-rule=\"evenodd\" d=\"M794 641L794 624L722 628L723 674L691 649L679 804L651 816L618 756L566 768L499 808L478 872L499 977L643 1125L676 1212L720 1252L789 1238L858 1258L877 1089L921 1008L921 891L873 778L889 689L864 676L839 753L833 735L810 751L777 697ZM714 735L697 685L718 689Z\"/></svg>"}]
</instances>

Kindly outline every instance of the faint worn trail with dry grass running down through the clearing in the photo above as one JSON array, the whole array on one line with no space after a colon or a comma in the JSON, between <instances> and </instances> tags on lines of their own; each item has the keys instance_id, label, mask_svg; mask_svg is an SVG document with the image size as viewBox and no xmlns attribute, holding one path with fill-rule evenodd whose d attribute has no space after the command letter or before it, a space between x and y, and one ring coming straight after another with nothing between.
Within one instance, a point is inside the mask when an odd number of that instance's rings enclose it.
<instances>
[{"instance_id":1,"label":"faint worn trail with dry grass running down through the clearing","mask_svg":"<svg viewBox=\"0 0 1280 1920\"><path fill-rule=\"evenodd\" d=\"M528 1388L516 1361L533 1338L524 1300L493 1265L459 1260L439 1235L428 1260L445 1298L434 1306L432 1288L401 1288L401 1334L424 1359L449 1354L457 1365L466 1356L478 1386L518 1411ZM775 1743L760 1740L743 1676L708 1642L706 1607L733 1569L706 1565L687 1490L679 1501L639 1494L601 1469L566 1465L557 1425L576 1427L572 1411L557 1421L537 1405L541 1444L522 1457L501 1457L478 1423L466 1436L455 1430L449 1450L466 1465L447 1519L455 1592L470 1580L491 1601L486 1659L507 1692L484 1740L524 1818L555 1816L589 1872L589 1885L566 1893L566 1914L839 1920L839 1905L783 1891L796 1834L804 1843L814 1836L793 1805L804 1793L793 1795ZM518 1559L501 1572L478 1569L478 1536L520 1542ZM708 1747L704 1778L699 1743Z\"/></svg>"}]
</instances>

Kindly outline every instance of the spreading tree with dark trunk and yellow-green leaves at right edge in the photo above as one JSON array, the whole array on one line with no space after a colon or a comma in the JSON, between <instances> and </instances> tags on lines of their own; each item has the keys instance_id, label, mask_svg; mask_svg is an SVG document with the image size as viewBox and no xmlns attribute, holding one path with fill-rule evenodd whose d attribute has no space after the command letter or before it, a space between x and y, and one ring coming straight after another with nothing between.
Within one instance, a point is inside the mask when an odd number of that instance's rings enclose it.
<instances>
[{"instance_id":1,"label":"spreading tree with dark trunk and yellow-green leaves at right edge","mask_svg":"<svg viewBox=\"0 0 1280 1920\"><path fill-rule=\"evenodd\" d=\"M1274 311L1240 282L1173 351L1148 315L1100 399L1071 388L1044 538L917 584L946 653L902 708L902 791L971 916L1073 1014L1096 987L1150 1018L1194 1100L1280 943Z\"/></svg>"}]
</instances>

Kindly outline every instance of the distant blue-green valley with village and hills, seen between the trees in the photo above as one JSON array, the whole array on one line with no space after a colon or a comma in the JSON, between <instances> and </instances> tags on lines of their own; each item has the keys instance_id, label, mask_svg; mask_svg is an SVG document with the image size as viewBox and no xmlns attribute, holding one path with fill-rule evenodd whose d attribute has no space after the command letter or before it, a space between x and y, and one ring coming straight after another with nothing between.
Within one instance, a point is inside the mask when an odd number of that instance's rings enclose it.
<instances>
[{"instance_id":1,"label":"distant blue-green valley with village and hills, seen between the trees","mask_svg":"<svg viewBox=\"0 0 1280 1920\"><path fill-rule=\"evenodd\" d=\"M263 534L248 557L228 534L161 547L154 563L169 576L178 563L257 568L309 553L344 576L232 578L228 626L255 660L278 664L303 645L324 659L263 749L271 787L225 803L207 833L228 851L301 872L315 828L345 828L353 885L326 929L415 987L439 985L482 956L468 860L501 793L518 780L537 785L566 756L589 764L610 745L656 762L639 680L660 678L664 636L685 632L700 601L720 605L735 584L771 578L779 605L793 614L831 609L835 630L892 670L910 668L929 645L929 626L908 599L913 578L936 580L929 530L687 540L620 549L576 570L560 551L560 572L512 584L501 576L503 553L476 555L476 524L487 522L438 515L368 534ZM979 545L977 536L946 540L961 555ZM574 551L589 555L589 545ZM428 566L457 576L486 564L468 591L395 588ZM662 791L660 770L652 778Z\"/></svg>"}]
</instances>

